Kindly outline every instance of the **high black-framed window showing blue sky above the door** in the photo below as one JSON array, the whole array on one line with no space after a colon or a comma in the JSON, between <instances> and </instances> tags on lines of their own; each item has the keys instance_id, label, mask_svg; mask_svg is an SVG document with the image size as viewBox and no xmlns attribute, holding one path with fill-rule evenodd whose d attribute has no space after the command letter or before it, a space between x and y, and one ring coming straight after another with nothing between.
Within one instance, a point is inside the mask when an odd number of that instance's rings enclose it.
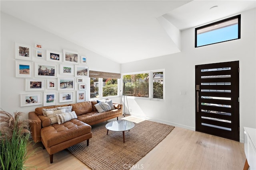
<instances>
[{"instance_id":1,"label":"high black-framed window showing blue sky above the door","mask_svg":"<svg viewBox=\"0 0 256 170\"><path fill-rule=\"evenodd\" d=\"M240 39L241 15L195 29L195 47Z\"/></svg>"}]
</instances>

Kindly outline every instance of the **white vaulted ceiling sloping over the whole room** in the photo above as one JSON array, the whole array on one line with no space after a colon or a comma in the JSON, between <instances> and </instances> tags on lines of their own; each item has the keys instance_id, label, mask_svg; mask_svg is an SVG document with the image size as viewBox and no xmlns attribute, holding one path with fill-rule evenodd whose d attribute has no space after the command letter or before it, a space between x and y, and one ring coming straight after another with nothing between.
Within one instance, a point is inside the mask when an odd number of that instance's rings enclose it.
<instances>
[{"instance_id":1,"label":"white vaulted ceiling sloping over the whole room","mask_svg":"<svg viewBox=\"0 0 256 170\"><path fill-rule=\"evenodd\" d=\"M172 37L175 35L170 35L168 29L180 32L256 7L254 0L1 0L0 3L1 12L118 63L178 53L181 49L175 41L177 37ZM161 20L172 27L166 27Z\"/></svg>"}]
</instances>

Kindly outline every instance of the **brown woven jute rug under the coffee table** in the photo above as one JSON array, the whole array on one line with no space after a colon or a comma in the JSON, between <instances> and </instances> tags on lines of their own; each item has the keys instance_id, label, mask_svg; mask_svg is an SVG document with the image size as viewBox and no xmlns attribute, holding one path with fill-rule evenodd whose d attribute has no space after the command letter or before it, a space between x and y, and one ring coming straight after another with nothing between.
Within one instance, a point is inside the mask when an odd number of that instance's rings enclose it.
<instances>
[{"instance_id":1,"label":"brown woven jute rug under the coffee table","mask_svg":"<svg viewBox=\"0 0 256 170\"><path fill-rule=\"evenodd\" d=\"M174 129L170 125L129 117L124 119L133 121L135 126L125 131L125 143L122 132L109 131L106 135L106 127L100 127L92 129L88 147L83 141L68 150L92 170L127 169L128 165L136 164Z\"/></svg>"}]
</instances>

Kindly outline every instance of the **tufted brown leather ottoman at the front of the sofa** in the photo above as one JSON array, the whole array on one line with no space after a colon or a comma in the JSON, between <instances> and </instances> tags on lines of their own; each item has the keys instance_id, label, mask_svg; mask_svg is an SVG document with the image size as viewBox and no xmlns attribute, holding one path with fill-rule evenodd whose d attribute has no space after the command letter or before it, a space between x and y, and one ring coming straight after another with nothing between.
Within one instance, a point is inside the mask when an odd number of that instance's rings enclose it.
<instances>
[{"instance_id":1,"label":"tufted brown leather ottoman at the front of the sofa","mask_svg":"<svg viewBox=\"0 0 256 170\"><path fill-rule=\"evenodd\" d=\"M72 145L92 138L92 127L78 119L72 119L62 124L43 127L41 129L42 143L50 154L50 163L53 162L53 154Z\"/></svg>"}]
</instances>

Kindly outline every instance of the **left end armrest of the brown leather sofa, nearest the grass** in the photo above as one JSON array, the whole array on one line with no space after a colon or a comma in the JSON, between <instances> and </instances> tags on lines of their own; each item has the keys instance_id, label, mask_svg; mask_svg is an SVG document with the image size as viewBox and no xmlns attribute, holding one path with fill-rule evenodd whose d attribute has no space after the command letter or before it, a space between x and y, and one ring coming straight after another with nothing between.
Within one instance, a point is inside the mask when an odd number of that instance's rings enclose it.
<instances>
[{"instance_id":1,"label":"left end armrest of the brown leather sofa, nearest the grass","mask_svg":"<svg viewBox=\"0 0 256 170\"><path fill-rule=\"evenodd\" d=\"M41 141L41 127L42 127L42 122L41 122L40 118L36 115L36 113L34 111L31 111L28 113L28 119L37 121L37 122L29 123L29 126L30 126L30 132L31 132L33 141L35 143L40 142Z\"/></svg>"}]
</instances>

